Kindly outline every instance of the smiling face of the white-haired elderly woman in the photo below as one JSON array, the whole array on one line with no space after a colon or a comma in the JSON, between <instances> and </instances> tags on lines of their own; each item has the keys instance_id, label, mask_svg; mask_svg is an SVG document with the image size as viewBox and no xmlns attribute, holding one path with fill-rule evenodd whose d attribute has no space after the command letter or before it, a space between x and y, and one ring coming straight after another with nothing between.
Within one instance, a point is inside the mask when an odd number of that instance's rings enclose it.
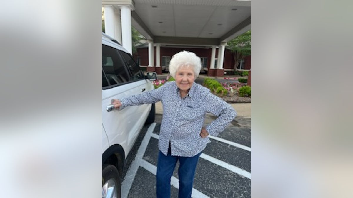
<instances>
[{"instance_id":1,"label":"smiling face of the white-haired elderly woman","mask_svg":"<svg viewBox=\"0 0 353 198\"><path fill-rule=\"evenodd\" d=\"M188 91L195 81L195 74L191 67L181 67L175 74L175 82L181 91Z\"/></svg>"}]
</instances>

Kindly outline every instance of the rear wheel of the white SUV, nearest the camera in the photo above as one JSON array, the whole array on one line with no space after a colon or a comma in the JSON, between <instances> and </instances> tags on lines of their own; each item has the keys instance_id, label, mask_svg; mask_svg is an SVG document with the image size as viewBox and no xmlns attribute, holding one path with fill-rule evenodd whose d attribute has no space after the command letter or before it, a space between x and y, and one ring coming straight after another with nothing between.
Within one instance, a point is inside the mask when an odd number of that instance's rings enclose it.
<instances>
[{"instance_id":1,"label":"rear wheel of the white SUV, nearest the camera","mask_svg":"<svg viewBox=\"0 0 353 198\"><path fill-rule=\"evenodd\" d=\"M118 169L110 164L102 169L102 198L120 198L121 181Z\"/></svg>"}]
</instances>

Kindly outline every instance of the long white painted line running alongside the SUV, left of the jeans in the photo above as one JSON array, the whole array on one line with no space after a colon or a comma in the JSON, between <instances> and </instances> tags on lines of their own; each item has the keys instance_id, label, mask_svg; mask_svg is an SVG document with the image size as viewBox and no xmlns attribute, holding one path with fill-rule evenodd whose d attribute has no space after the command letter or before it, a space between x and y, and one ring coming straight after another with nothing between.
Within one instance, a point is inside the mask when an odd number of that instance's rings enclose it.
<instances>
[{"instance_id":1,"label":"long white painted line running alongside the SUV, left of the jeans","mask_svg":"<svg viewBox=\"0 0 353 198\"><path fill-rule=\"evenodd\" d=\"M129 194L130 188L132 186L132 182L135 178L138 167L141 164L142 157L145 154L146 148L148 146L148 142L150 141L151 134L156 126L156 123L152 123L147 129L146 135L143 138L140 148L137 150L137 154L133 162L131 163L130 168L128 169L124 181L121 184L121 197L126 198Z\"/></svg>"}]
</instances>

